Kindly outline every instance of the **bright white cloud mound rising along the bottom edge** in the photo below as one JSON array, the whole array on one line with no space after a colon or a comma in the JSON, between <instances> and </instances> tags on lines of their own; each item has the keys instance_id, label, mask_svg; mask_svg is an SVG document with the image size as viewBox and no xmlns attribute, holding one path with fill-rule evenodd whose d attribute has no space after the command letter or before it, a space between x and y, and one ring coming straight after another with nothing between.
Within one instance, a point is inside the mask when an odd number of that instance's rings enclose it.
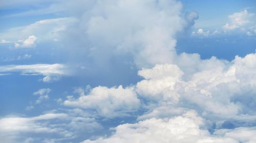
<instances>
[{"instance_id":1,"label":"bright white cloud mound rising along the bottom edge","mask_svg":"<svg viewBox=\"0 0 256 143\"><path fill-rule=\"evenodd\" d=\"M238 143L228 137L211 136L207 130L201 130L202 119L193 111L170 119L148 119L135 124L123 124L115 128L108 138L85 140L93 142L229 142Z\"/></svg>"}]
</instances>

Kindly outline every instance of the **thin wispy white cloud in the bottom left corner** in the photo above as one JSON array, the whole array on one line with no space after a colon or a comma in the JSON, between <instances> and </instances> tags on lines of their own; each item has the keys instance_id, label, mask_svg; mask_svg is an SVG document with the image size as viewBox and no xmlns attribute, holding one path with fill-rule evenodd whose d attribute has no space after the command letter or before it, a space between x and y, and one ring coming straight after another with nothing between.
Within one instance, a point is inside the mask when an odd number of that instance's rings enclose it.
<instances>
[{"instance_id":1,"label":"thin wispy white cloud in the bottom left corner","mask_svg":"<svg viewBox=\"0 0 256 143\"><path fill-rule=\"evenodd\" d=\"M37 117L6 117L0 119L0 137L4 142L15 142L19 138L23 138L25 133L55 133L64 135L67 131L61 128L54 128L47 123L53 119L63 119L67 115L64 113L47 113ZM72 135L72 133L70 133Z\"/></svg>"}]
</instances>

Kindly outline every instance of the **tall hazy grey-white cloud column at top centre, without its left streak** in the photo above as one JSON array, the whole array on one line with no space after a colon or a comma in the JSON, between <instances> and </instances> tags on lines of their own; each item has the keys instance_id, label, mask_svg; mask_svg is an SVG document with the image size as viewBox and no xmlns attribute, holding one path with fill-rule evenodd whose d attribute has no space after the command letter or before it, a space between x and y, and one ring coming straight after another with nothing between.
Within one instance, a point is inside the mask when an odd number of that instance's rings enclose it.
<instances>
[{"instance_id":1,"label":"tall hazy grey-white cloud column at top centre, without its left streak","mask_svg":"<svg viewBox=\"0 0 256 143\"><path fill-rule=\"evenodd\" d=\"M180 2L134 0L96 4L89 10L92 14L87 15L85 23L86 34L96 48L131 53L138 67L173 61L176 55L174 36L187 24L180 16ZM193 21L194 15L190 13L187 20Z\"/></svg>"}]
</instances>

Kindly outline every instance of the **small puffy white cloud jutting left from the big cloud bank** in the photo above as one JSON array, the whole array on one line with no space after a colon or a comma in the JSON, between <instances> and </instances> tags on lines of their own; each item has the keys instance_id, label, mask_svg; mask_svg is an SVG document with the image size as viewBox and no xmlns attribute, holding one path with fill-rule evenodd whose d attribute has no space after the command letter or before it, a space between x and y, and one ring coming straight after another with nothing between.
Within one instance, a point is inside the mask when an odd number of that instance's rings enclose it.
<instances>
[{"instance_id":1,"label":"small puffy white cloud jutting left from the big cloud bank","mask_svg":"<svg viewBox=\"0 0 256 143\"><path fill-rule=\"evenodd\" d=\"M127 113L137 110L140 101L133 88L123 89L120 85L118 88L96 87L89 95L82 93L78 99L71 98L63 104L82 109L93 109L102 117L114 118L127 116Z\"/></svg>"}]
</instances>

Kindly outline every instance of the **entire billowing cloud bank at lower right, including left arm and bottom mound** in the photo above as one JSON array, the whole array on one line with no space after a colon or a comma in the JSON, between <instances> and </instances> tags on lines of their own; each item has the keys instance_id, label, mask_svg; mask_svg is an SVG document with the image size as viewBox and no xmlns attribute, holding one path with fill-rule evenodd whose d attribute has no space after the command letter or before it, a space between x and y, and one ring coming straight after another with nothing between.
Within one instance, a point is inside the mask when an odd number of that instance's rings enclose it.
<instances>
[{"instance_id":1,"label":"entire billowing cloud bank at lower right, including left arm and bottom mound","mask_svg":"<svg viewBox=\"0 0 256 143\"><path fill-rule=\"evenodd\" d=\"M140 70L144 79L134 89L96 87L88 95L76 89L80 97L69 97L64 105L94 109L105 118L122 117L138 106L145 110L138 123L119 125L110 137L83 142L253 142L255 129L247 126L255 125L255 61L256 53L231 62L183 53L177 65ZM236 135L243 131L248 138Z\"/></svg>"}]
</instances>

